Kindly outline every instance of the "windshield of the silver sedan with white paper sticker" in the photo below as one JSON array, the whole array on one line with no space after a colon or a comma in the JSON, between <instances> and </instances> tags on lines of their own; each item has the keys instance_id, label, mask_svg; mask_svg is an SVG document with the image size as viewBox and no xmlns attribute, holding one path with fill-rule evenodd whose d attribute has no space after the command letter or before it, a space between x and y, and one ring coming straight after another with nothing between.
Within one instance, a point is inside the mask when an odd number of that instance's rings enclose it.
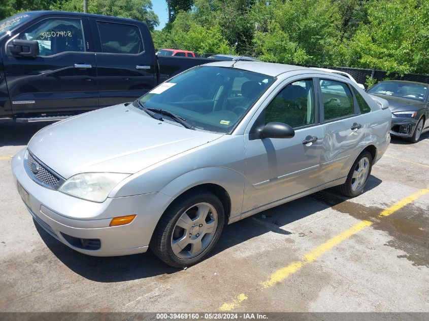
<instances>
[{"instance_id":1,"label":"windshield of the silver sedan with white paper sticker","mask_svg":"<svg viewBox=\"0 0 429 321\"><path fill-rule=\"evenodd\" d=\"M152 89L134 106L169 111L195 129L230 133L276 78L236 68L198 66Z\"/></svg>"}]
</instances>

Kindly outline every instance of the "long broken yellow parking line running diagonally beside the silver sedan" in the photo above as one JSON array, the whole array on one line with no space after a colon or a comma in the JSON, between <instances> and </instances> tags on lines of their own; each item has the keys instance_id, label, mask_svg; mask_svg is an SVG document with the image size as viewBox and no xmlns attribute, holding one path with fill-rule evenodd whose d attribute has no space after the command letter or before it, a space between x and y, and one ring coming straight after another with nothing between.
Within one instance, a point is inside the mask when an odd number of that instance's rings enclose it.
<instances>
[{"instance_id":1,"label":"long broken yellow parking line running diagonally beside the silver sedan","mask_svg":"<svg viewBox=\"0 0 429 321\"><path fill-rule=\"evenodd\" d=\"M429 193L429 188L422 189L422 190L420 190L420 191L418 191L418 192L416 192L410 196L407 196L406 198L404 198L404 199L394 203L393 205L389 206L388 208L382 210L380 212L380 214L378 215L378 217L379 218L387 217L387 216L391 215L392 213L394 213L395 211L403 208L407 204L415 201L416 199L418 199L419 197L421 197L427 193ZM270 277L265 282L261 283L262 288L270 288L270 287L274 286L274 284L285 280L289 275L300 270L306 264L309 264L311 262L316 261L321 255L328 252L334 246L340 244L344 240L353 236L357 232L365 229L366 227L371 226L372 224L373 223L370 221L366 221L366 220L361 221L361 222L353 225L349 229L345 230L344 232L341 232L340 234L334 236L333 238L329 239L325 243L323 243L323 244L317 246L316 248L312 249L312 251L310 251L309 253L307 253L304 256L303 260L292 262L289 265L287 265L281 269L278 269L277 271L272 273L270 275ZM242 294L238 295L236 297L236 299L234 299L232 302L222 304L222 306L219 309L221 311L231 311L231 310L235 309L237 306L239 306L240 303L246 299L248 299L248 297L244 293L242 293Z\"/></svg>"}]
</instances>

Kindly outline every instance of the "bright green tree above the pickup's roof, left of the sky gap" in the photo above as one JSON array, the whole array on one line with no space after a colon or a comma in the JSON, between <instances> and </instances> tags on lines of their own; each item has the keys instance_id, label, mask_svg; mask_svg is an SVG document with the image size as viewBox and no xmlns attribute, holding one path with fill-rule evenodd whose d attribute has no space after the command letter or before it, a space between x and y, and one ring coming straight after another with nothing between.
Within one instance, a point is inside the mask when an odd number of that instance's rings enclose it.
<instances>
[{"instance_id":1,"label":"bright green tree above the pickup's roof, left of the sky gap","mask_svg":"<svg viewBox=\"0 0 429 321\"><path fill-rule=\"evenodd\" d=\"M61 1L52 5L51 9L83 12L83 1ZM152 10L150 0L89 0L88 13L140 20L151 30L159 24L159 18Z\"/></svg>"}]
</instances>

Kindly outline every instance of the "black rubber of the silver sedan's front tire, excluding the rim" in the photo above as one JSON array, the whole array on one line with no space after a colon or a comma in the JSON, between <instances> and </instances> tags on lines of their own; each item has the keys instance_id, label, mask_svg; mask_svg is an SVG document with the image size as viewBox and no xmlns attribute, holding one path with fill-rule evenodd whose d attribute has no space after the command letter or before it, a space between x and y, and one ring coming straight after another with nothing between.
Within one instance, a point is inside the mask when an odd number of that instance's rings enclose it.
<instances>
[{"instance_id":1,"label":"black rubber of the silver sedan's front tire, excluding the rim","mask_svg":"<svg viewBox=\"0 0 429 321\"><path fill-rule=\"evenodd\" d=\"M172 235L176 228L176 223L182 217L183 213L190 207L199 203L208 203L214 207L217 212L216 230L210 243L199 255L183 259L178 257L172 248ZM188 267L198 262L201 262L212 250L219 240L225 223L225 214L222 202L219 198L209 191L195 191L182 195L175 200L163 213L155 231L153 232L151 242L149 244L152 252L164 263L173 267ZM186 232L186 231L185 231Z\"/></svg>"}]
</instances>

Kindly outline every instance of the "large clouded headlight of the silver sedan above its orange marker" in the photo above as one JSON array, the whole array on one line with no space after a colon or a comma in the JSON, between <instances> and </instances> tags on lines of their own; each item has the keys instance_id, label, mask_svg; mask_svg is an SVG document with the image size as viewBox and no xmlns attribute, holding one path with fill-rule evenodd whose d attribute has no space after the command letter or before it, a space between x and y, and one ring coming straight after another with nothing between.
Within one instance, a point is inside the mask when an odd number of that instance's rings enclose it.
<instances>
[{"instance_id":1,"label":"large clouded headlight of the silver sedan above its orange marker","mask_svg":"<svg viewBox=\"0 0 429 321\"><path fill-rule=\"evenodd\" d=\"M104 202L113 188L130 174L82 173L70 177L58 191L93 202Z\"/></svg>"}]
</instances>

